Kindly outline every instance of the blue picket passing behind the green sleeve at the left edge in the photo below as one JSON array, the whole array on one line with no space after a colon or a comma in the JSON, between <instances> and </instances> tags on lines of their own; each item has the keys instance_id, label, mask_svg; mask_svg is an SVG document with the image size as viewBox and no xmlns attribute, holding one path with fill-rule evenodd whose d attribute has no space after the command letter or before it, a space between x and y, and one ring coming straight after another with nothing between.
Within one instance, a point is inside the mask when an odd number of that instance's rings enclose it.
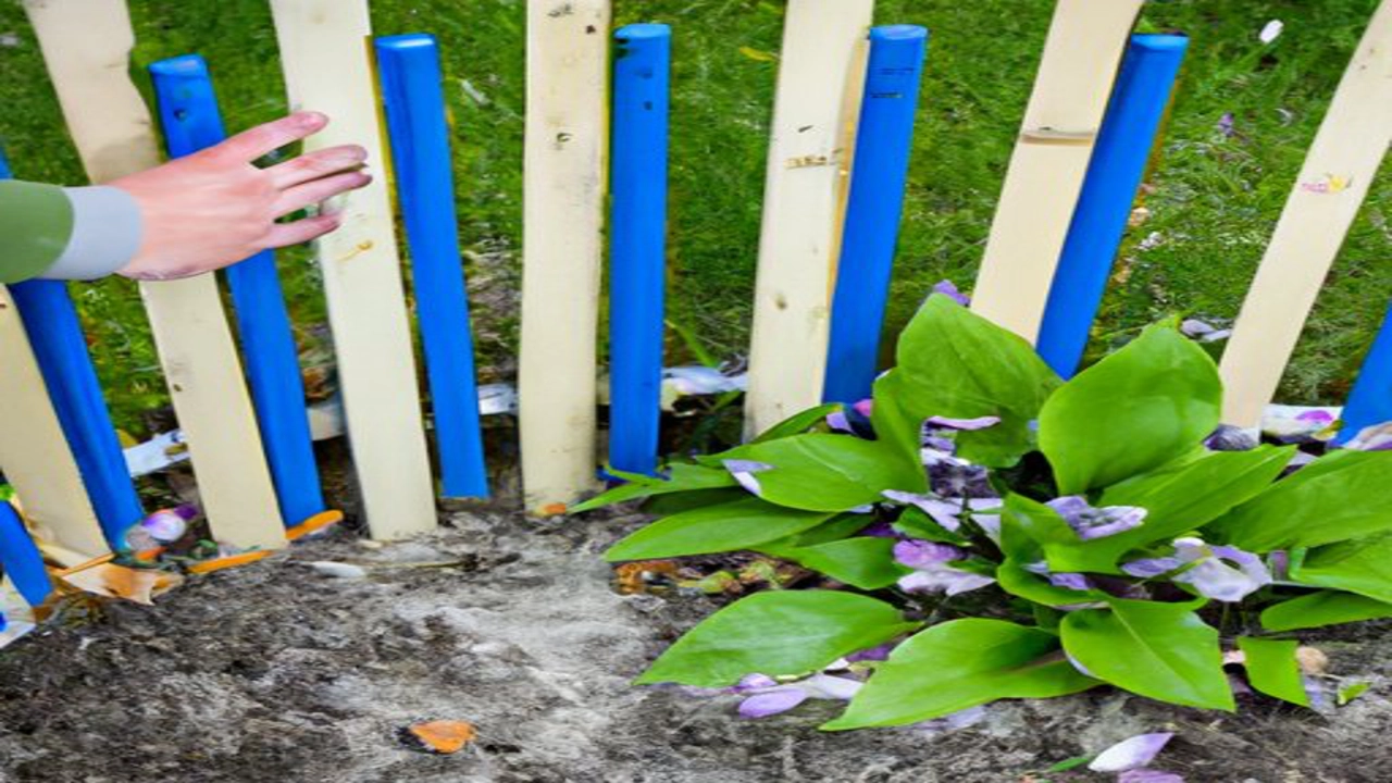
<instances>
[{"instance_id":1,"label":"blue picket passing behind the green sleeve at the left edge","mask_svg":"<svg viewBox=\"0 0 1392 783\"><path fill-rule=\"evenodd\" d=\"M0 180L10 177L10 164L0 153ZM125 468L121 442L68 286L60 280L29 280L10 286L10 294L19 308L19 319L102 534L118 549L124 546L121 539L127 528L141 521L145 510Z\"/></svg>"}]
</instances>

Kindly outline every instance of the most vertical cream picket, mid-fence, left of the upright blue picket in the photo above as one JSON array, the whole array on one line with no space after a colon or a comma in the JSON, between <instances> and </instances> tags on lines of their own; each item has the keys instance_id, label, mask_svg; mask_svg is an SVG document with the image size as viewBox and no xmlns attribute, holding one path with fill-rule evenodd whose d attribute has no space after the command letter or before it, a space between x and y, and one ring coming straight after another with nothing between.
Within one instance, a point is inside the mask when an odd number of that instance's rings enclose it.
<instances>
[{"instance_id":1,"label":"most vertical cream picket, mid-fence, left of the upright blue picket","mask_svg":"<svg viewBox=\"0 0 1392 783\"><path fill-rule=\"evenodd\" d=\"M608 0L529 0L518 404L528 509L596 485Z\"/></svg>"}]
</instances>

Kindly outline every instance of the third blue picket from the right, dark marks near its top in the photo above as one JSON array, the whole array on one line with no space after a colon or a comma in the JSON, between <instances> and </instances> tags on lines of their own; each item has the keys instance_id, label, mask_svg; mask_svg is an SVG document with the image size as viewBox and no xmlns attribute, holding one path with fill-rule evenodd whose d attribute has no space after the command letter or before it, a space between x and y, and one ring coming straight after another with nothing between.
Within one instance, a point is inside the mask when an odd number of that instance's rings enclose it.
<instances>
[{"instance_id":1,"label":"third blue picket from the right, dark marks near its top","mask_svg":"<svg viewBox=\"0 0 1392 783\"><path fill-rule=\"evenodd\" d=\"M927 45L928 31L922 26L870 29L870 61L821 390L828 403L864 400L878 371L880 332L899 240Z\"/></svg>"}]
</instances>

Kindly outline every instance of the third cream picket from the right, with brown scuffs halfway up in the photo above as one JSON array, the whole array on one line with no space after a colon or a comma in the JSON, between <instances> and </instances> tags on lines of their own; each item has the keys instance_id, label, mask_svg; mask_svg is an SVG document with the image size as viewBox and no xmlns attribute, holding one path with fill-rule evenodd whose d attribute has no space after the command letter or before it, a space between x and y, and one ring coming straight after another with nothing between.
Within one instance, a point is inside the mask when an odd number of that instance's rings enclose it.
<instances>
[{"instance_id":1,"label":"third cream picket from the right, with brown scuffs halfway up","mask_svg":"<svg viewBox=\"0 0 1392 783\"><path fill-rule=\"evenodd\" d=\"M791 0L764 181L745 433L821 403L873 0Z\"/></svg>"}]
</instances>

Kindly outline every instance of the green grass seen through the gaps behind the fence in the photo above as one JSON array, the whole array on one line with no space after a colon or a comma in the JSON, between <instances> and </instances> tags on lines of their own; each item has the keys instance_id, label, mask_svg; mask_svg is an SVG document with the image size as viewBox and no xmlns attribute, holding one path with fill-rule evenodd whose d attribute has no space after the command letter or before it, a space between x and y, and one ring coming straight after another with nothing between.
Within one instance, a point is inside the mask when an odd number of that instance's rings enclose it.
<instances>
[{"instance_id":1,"label":"green grass seen through the gaps behind the fence","mask_svg":"<svg viewBox=\"0 0 1392 783\"><path fill-rule=\"evenodd\" d=\"M1231 319L1279 215L1306 146L1375 0L1157 0L1153 29L1193 39L1179 98L1146 196L1151 216L1130 231L1102 308L1097 350L1169 313ZM263 0L131 0L136 65L200 52L231 128L284 110L276 38ZM472 249L515 249L521 234L523 110L522 0L376 0L379 33L436 33L458 131L458 209ZM905 208L889 325L908 320L940 279L969 287L990 227L1052 3L1045 0L880 0L877 21L933 32ZM767 127L782 3L617 0L618 22L674 26L671 319L718 357L745 351L753 290ZM1272 46L1257 31L1281 18ZM17 176L77 183L81 171L22 11L0 0L0 142ZM1231 113L1236 134L1218 132ZM1374 184L1286 375L1282 397L1338 401L1392 293L1384 208ZM1141 238L1151 237L1144 247ZM306 254L283 261L296 318L323 318ZM124 280L78 295L100 373L125 392L125 428L164 398L138 295ZM498 334L482 346L503 365L515 313L491 312ZM306 332L308 339L309 332ZM695 351L677 339L672 361Z\"/></svg>"}]
</instances>

